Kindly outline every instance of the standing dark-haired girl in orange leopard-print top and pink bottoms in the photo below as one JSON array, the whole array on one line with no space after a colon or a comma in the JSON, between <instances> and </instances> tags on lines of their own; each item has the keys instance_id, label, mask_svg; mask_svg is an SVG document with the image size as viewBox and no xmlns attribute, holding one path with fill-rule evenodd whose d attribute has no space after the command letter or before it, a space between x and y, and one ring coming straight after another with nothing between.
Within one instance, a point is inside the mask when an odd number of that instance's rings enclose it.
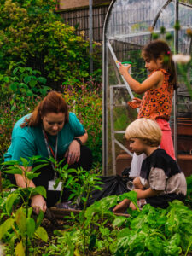
<instances>
[{"instance_id":1,"label":"standing dark-haired girl in orange leopard-print top and pink bottoms","mask_svg":"<svg viewBox=\"0 0 192 256\"><path fill-rule=\"evenodd\" d=\"M166 42L154 40L147 44L142 51L145 67L150 73L148 79L142 84L133 79L128 73L129 66L120 65L119 72L124 76L131 89L137 94L143 94L143 99L134 98L128 102L131 108L140 108L137 118L154 119L162 131L160 148L166 150L175 160L174 148L172 143L172 131L168 123L172 112L172 96L176 87L176 73L172 61L172 53ZM133 155L131 163L131 177L137 177L144 159L136 159Z\"/></svg>"}]
</instances>

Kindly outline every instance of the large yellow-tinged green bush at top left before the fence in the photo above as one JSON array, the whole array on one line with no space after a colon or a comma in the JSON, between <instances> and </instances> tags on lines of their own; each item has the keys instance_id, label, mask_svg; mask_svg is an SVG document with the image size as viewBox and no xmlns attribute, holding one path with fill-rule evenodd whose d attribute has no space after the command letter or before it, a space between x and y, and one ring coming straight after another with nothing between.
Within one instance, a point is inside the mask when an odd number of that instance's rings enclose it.
<instances>
[{"instance_id":1,"label":"large yellow-tinged green bush at top left before the fence","mask_svg":"<svg viewBox=\"0 0 192 256\"><path fill-rule=\"evenodd\" d=\"M54 13L54 1L0 0L0 73L23 61L55 90L89 77L89 42ZM95 63L95 56L93 56Z\"/></svg>"}]
</instances>

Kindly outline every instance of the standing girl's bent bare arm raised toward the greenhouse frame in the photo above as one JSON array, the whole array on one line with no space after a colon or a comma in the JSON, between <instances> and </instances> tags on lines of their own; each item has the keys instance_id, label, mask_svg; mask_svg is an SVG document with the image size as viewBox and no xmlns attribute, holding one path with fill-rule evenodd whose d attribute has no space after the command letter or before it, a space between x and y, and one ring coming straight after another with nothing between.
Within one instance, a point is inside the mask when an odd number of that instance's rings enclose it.
<instances>
[{"instance_id":1,"label":"standing girl's bent bare arm raised toward the greenhouse frame","mask_svg":"<svg viewBox=\"0 0 192 256\"><path fill-rule=\"evenodd\" d=\"M163 73L161 71L156 71L150 77L148 77L148 79L145 79L142 84L140 84L137 80L131 77L130 73L128 73L130 67L131 65L120 65L119 73L124 76L131 89L137 94L143 94L143 92L151 88L159 88L163 83Z\"/></svg>"}]
</instances>

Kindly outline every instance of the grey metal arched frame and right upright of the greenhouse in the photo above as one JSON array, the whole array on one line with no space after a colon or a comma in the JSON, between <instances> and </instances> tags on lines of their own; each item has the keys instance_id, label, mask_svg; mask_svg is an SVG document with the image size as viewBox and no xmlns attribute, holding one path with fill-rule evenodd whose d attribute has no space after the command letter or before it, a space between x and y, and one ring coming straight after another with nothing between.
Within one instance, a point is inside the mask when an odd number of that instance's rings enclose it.
<instances>
[{"instance_id":1,"label":"grey metal arched frame and right upright of the greenhouse","mask_svg":"<svg viewBox=\"0 0 192 256\"><path fill-rule=\"evenodd\" d=\"M110 17L111 9L113 8L113 4L116 2L116 0L113 0L111 4L109 5L108 12L104 21L103 25L103 33L102 33L102 38L103 38L103 51L102 51L102 81L103 81L103 107L102 107L102 163L103 163L103 174L104 176L107 175L107 167L108 167L108 108L107 108L107 86L108 86L108 40L107 40L107 25L108 25L108 19ZM168 0L160 9L158 14L156 15L154 19L153 26L155 26L158 18L160 17L160 13L162 9L165 9L166 6L171 3L175 3L175 13L174 13L174 18L175 22L178 20L178 0ZM185 3L179 3L184 6L189 6L191 7L190 4L185 4ZM175 53L178 52L178 31L174 32L174 46L175 46ZM177 157L177 90L175 90L174 93L174 146L175 146L175 154Z\"/></svg>"}]
</instances>

